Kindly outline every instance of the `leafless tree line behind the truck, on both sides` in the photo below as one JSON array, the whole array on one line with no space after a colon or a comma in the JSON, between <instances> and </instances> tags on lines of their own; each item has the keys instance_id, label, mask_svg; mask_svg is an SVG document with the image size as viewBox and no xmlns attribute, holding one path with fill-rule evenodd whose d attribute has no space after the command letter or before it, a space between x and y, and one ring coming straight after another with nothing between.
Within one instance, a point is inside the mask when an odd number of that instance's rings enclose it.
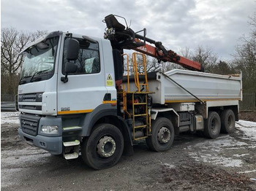
<instances>
[{"instance_id":1,"label":"leafless tree line behind the truck, on both sides","mask_svg":"<svg viewBox=\"0 0 256 191\"><path fill-rule=\"evenodd\" d=\"M206 72L236 74L242 71L244 92L256 93L256 12L249 18L249 25L252 27L250 35L241 37L230 61L220 60L210 47L200 45L195 50L187 47L179 54L199 62ZM24 58L20 51L44 34L47 31L25 32L15 28L1 28L1 94L17 94ZM173 63L158 63L157 59L148 57L147 61L147 71L182 68Z\"/></svg>"}]
</instances>

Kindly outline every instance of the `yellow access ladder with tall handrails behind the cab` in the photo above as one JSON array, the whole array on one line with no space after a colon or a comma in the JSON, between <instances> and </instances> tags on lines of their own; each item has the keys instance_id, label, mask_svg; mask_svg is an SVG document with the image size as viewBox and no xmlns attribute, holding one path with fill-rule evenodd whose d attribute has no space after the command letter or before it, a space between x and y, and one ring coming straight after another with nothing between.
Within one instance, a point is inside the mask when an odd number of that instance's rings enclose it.
<instances>
[{"instance_id":1,"label":"yellow access ladder with tall handrails behind the cab","mask_svg":"<svg viewBox=\"0 0 256 191\"><path fill-rule=\"evenodd\" d=\"M124 110L124 119L128 117L132 119L133 122L133 140L145 139L151 133L151 116L148 114L148 78L146 74L146 55L133 52L132 53L132 69L134 72L135 87L136 91L131 91L129 87L129 55L123 54L123 57L126 56L126 66L127 74L124 76L127 77L127 87L122 87L120 94L123 98L123 110ZM138 59L138 56L141 56L141 60ZM141 77L142 76L142 77ZM143 82L140 82L142 81ZM142 90L144 87L144 90ZM132 97L132 111L128 111L127 97ZM139 100L138 100L139 98ZM136 111L136 112L135 112ZM138 112L139 111L139 112ZM140 120L143 121L143 124L140 124ZM143 132L143 133L141 133ZM141 133L141 134L140 134Z\"/></svg>"}]
</instances>

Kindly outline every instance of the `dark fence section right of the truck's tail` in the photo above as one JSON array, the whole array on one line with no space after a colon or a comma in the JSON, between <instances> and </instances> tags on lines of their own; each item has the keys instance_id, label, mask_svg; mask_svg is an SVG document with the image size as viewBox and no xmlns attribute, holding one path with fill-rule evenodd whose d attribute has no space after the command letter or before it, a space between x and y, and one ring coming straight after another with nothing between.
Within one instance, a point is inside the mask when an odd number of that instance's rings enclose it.
<instances>
[{"instance_id":1,"label":"dark fence section right of the truck's tail","mask_svg":"<svg viewBox=\"0 0 256 191\"><path fill-rule=\"evenodd\" d=\"M241 111L255 111L255 93L243 93L243 101L239 104Z\"/></svg>"}]
</instances>

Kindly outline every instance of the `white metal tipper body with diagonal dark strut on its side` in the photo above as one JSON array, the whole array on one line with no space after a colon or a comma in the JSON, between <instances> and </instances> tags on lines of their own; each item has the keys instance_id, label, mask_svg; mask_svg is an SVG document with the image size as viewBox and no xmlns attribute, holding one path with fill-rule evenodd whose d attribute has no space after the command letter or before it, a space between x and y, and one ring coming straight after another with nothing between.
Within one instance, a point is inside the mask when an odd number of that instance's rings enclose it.
<instances>
[{"instance_id":1,"label":"white metal tipper body with diagonal dark strut on its side","mask_svg":"<svg viewBox=\"0 0 256 191\"><path fill-rule=\"evenodd\" d=\"M241 74L233 77L180 69L165 74L202 101L242 99ZM155 79L148 79L148 87L154 92L151 95L154 104L198 101L160 73L157 73Z\"/></svg>"}]
</instances>

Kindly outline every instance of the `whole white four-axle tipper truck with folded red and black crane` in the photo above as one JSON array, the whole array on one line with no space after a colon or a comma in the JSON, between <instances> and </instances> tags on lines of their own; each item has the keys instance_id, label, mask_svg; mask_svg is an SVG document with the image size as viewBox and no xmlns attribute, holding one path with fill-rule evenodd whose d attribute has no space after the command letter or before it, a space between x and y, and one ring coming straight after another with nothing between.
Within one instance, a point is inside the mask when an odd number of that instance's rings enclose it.
<instances>
[{"instance_id":1,"label":"whole white four-axle tipper truck with folded red and black crane","mask_svg":"<svg viewBox=\"0 0 256 191\"><path fill-rule=\"evenodd\" d=\"M234 131L241 74L204 73L200 63L116 17L105 17L105 39L54 31L23 50L16 103L20 139L67 160L81 153L99 170L132 155L138 140L164 152L181 132L216 139L220 131ZM125 49L137 50L132 64ZM146 55L187 70L147 73Z\"/></svg>"}]
</instances>

